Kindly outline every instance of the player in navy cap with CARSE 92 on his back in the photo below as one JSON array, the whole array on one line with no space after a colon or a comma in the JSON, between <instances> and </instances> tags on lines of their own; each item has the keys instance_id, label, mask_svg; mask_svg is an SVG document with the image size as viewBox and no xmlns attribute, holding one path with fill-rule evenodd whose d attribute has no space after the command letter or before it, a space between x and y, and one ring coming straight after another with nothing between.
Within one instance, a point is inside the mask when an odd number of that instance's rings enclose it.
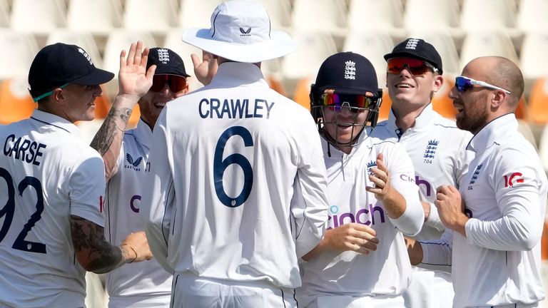
<instances>
[{"instance_id":1,"label":"player in navy cap with CARSE 92 on his back","mask_svg":"<svg viewBox=\"0 0 548 308\"><path fill-rule=\"evenodd\" d=\"M134 68L135 54L124 69ZM143 232L120 246L106 242L103 160L73 124L93 119L99 85L111 78L83 48L46 46L29 71L38 109L0 126L0 307L83 307L86 270L104 273L152 257ZM124 94L135 87L128 83Z\"/></svg>"}]
</instances>

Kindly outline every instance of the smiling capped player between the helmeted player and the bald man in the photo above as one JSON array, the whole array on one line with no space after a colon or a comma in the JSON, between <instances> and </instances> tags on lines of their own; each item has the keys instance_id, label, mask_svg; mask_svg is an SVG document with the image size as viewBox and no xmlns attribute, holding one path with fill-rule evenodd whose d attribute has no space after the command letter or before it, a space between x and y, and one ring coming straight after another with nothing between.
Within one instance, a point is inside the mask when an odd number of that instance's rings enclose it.
<instances>
[{"instance_id":1,"label":"smiling capped player between the helmeted player and the bald man","mask_svg":"<svg viewBox=\"0 0 548 308\"><path fill-rule=\"evenodd\" d=\"M379 123L372 135L400 143L409 154L425 211L425 224L414 238L439 240L445 227L434 205L436 188L457 186L465 175L473 156L466 150L472 134L432 109L430 100L445 82L442 58L432 44L406 39L385 59L392 108L388 120ZM451 308L450 265L420 266L426 268L413 268L410 287L404 294L406 307Z\"/></svg>"}]
</instances>

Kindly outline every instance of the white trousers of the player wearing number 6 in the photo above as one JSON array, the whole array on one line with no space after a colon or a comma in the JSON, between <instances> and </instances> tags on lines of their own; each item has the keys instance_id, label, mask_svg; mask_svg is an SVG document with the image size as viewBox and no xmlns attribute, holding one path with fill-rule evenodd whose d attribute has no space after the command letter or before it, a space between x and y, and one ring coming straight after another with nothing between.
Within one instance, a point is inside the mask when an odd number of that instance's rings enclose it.
<instances>
[{"instance_id":1,"label":"white trousers of the player wearing number 6","mask_svg":"<svg viewBox=\"0 0 548 308\"><path fill-rule=\"evenodd\" d=\"M171 307L297 308L297 301L295 289L276 287L268 282L233 282L176 274Z\"/></svg>"}]
</instances>

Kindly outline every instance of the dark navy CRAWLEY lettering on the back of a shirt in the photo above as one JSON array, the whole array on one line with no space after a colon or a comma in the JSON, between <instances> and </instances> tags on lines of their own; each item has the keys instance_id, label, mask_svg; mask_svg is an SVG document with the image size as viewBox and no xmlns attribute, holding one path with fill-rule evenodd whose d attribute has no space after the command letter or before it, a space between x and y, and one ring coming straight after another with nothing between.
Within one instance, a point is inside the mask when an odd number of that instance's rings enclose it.
<instances>
[{"instance_id":1,"label":"dark navy CRAWLEY lettering on the back of a shirt","mask_svg":"<svg viewBox=\"0 0 548 308\"><path fill-rule=\"evenodd\" d=\"M274 102L255 98L203 98L198 105L201 118L269 118Z\"/></svg>"}]
</instances>

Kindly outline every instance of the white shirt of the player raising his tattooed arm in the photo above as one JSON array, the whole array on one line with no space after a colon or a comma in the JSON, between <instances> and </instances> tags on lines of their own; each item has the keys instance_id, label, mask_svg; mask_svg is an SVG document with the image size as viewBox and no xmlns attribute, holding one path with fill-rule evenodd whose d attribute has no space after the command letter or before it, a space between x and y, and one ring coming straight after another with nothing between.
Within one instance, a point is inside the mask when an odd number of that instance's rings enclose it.
<instances>
[{"instance_id":1,"label":"white shirt of the player raising his tattooed arm","mask_svg":"<svg viewBox=\"0 0 548 308\"><path fill-rule=\"evenodd\" d=\"M151 128L143 120L123 135L118 172L106 185L105 236L113 245L121 245L131 232L144 228L141 196L146 191L145 175L150 170L151 143ZM171 273L155 259L118 267L106 274L109 307L168 307L171 279Z\"/></svg>"}]
</instances>

